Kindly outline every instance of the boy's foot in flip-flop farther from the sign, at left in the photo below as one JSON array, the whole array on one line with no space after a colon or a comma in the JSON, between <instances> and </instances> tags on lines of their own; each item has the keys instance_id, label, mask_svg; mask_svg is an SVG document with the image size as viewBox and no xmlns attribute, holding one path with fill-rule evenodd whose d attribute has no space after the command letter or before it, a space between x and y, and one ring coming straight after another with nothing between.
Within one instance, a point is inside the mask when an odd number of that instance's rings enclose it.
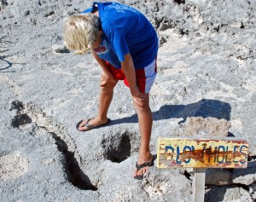
<instances>
[{"instance_id":1,"label":"boy's foot in flip-flop farther from the sign, at left","mask_svg":"<svg viewBox=\"0 0 256 202\"><path fill-rule=\"evenodd\" d=\"M102 120L102 119L98 119L98 118L83 119L77 124L77 130L79 130L79 131L91 130L98 126L108 124L108 122L109 122L108 118L106 120Z\"/></svg>"}]
</instances>

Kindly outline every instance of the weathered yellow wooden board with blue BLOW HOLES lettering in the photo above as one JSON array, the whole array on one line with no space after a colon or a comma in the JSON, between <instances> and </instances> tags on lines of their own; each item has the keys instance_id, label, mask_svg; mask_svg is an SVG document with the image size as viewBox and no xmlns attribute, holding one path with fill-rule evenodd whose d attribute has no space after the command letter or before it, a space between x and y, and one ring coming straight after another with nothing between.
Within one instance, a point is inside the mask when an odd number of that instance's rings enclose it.
<instances>
[{"instance_id":1,"label":"weathered yellow wooden board with blue BLOW HOLES lettering","mask_svg":"<svg viewBox=\"0 0 256 202\"><path fill-rule=\"evenodd\" d=\"M247 141L238 138L159 138L157 167L246 168Z\"/></svg>"}]
</instances>

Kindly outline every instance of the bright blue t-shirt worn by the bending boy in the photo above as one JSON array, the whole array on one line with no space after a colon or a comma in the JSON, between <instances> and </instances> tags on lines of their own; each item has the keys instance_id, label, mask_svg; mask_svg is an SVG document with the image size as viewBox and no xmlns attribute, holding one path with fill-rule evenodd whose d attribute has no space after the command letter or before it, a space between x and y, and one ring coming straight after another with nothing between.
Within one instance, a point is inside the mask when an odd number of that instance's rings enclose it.
<instances>
[{"instance_id":1,"label":"bright blue t-shirt worn by the bending boy","mask_svg":"<svg viewBox=\"0 0 256 202\"><path fill-rule=\"evenodd\" d=\"M109 51L95 51L103 60L120 68L125 55L130 53L135 69L154 61L158 51L158 38L154 27L137 9L120 3L94 3L102 23L102 44ZM83 13L90 12L87 9Z\"/></svg>"}]
</instances>

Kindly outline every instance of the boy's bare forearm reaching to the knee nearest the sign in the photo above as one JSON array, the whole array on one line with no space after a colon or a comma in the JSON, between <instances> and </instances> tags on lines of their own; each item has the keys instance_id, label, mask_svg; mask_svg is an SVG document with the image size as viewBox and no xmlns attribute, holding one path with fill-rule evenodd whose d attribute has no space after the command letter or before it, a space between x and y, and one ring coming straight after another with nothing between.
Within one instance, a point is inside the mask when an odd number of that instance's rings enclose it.
<instances>
[{"instance_id":1,"label":"boy's bare forearm reaching to the knee nearest the sign","mask_svg":"<svg viewBox=\"0 0 256 202\"><path fill-rule=\"evenodd\" d=\"M125 55L125 61L121 61L121 66L129 83L132 97L138 105L142 106L147 95L143 94L137 86L135 68L130 53Z\"/></svg>"}]
</instances>

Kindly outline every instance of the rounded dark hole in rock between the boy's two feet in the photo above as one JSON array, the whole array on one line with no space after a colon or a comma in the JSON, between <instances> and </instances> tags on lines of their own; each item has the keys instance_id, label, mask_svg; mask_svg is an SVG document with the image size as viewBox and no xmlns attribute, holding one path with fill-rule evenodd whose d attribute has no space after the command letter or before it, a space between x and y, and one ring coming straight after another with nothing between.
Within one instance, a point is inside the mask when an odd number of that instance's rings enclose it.
<instances>
[{"instance_id":1,"label":"rounded dark hole in rock between the boy's two feet","mask_svg":"<svg viewBox=\"0 0 256 202\"><path fill-rule=\"evenodd\" d=\"M116 139L118 141L118 139ZM114 163L120 163L131 156L131 140L127 134L124 134L119 144L111 143L107 146L105 158Z\"/></svg>"}]
</instances>

